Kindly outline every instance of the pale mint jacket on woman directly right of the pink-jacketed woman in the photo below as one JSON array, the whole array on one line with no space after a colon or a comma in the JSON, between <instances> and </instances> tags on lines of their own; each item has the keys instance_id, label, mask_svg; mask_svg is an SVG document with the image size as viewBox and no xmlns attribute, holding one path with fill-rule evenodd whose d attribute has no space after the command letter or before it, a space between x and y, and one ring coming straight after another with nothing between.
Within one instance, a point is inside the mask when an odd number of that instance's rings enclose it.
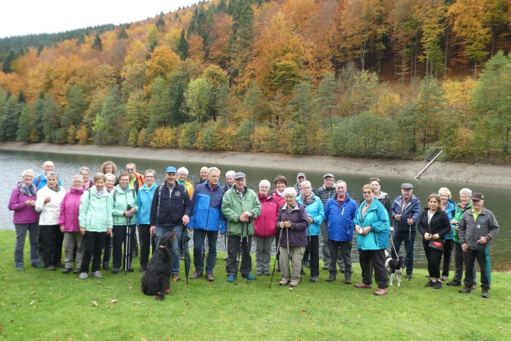
<instances>
[{"instance_id":1,"label":"pale mint jacket on woman directly right of the pink-jacketed woman","mask_svg":"<svg viewBox=\"0 0 511 341\"><path fill-rule=\"evenodd\" d=\"M112 210L108 205L108 192L98 196L96 186L83 192L80 198L78 222L81 228L90 232L106 232L112 228Z\"/></svg>"}]
</instances>

